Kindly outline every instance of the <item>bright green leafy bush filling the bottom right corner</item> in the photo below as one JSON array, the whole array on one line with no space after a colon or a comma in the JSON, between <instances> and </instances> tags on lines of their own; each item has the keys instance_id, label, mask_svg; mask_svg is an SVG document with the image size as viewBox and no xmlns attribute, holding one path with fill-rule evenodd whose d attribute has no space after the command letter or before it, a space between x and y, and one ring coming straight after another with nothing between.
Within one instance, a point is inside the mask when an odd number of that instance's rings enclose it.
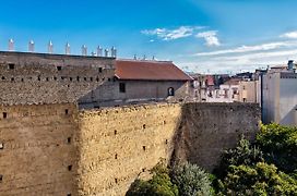
<instances>
[{"instance_id":1,"label":"bright green leafy bush filling the bottom right corner","mask_svg":"<svg viewBox=\"0 0 297 196\"><path fill-rule=\"evenodd\" d=\"M265 162L230 166L218 195L295 195L297 181Z\"/></svg>"}]
</instances>

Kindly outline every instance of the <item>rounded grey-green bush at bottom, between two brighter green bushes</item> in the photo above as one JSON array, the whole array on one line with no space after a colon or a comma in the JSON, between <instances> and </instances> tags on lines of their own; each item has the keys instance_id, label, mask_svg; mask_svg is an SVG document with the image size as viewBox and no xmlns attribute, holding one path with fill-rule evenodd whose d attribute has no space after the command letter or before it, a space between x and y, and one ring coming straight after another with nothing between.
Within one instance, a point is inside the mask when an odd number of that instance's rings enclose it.
<instances>
[{"instance_id":1,"label":"rounded grey-green bush at bottom, between two brighter green bushes","mask_svg":"<svg viewBox=\"0 0 297 196\"><path fill-rule=\"evenodd\" d=\"M181 196L211 195L210 176L195 164L178 164L173 168L170 175Z\"/></svg>"}]
</instances>

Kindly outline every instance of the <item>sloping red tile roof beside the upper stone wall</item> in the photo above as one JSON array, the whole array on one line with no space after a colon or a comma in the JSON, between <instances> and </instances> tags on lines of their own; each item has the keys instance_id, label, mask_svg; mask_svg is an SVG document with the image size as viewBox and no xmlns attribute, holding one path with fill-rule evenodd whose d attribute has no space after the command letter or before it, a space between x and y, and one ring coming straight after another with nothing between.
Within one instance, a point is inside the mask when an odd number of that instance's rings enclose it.
<instances>
[{"instance_id":1,"label":"sloping red tile roof beside the upper stone wall","mask_svg":"<svg viewBox=\"0 0 297 196\"><path fill-rule=\"evenodd\" d=\"M117 60L116 76L119 79L192 81L170 61Z\"/></svg>"}]
</instances>

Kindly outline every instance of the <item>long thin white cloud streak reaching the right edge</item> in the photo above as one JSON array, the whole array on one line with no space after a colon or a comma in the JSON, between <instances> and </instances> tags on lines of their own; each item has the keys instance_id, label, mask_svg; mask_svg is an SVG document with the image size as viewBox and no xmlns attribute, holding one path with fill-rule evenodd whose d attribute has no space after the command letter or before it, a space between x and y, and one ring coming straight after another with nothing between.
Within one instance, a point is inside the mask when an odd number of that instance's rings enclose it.
<instances>
[{"instance_id":1,"label":"long thin white cloud streak reaching the right edge","mask_svg":"<svg viewBox=\"0 0 297 196\"><path fill-rule=\"evenodd\" d=\"M226 50L216 50L211 52L199 52L194 56L221 56L221 54L230 54L230 53L245 53L245 52L254 52L254 51L266 51L273 49L281 49L285 47L294 47L297 46L297 41L277 41L277 42L269 42L262 45L254 46L240 46L233 49Z\"/></svg>"}]
</instances>

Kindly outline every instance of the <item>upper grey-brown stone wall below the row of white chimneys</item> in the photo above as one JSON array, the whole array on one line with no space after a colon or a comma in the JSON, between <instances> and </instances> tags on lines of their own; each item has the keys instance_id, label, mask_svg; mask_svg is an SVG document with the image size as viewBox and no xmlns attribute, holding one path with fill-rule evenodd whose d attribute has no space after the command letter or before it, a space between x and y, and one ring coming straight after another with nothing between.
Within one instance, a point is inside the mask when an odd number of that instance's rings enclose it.
<instances>
[{"instance_id":1,"label":"upper grey-brown stone wall below the row of white chimneys","mask_svg":"<svg viewBox=\"0 0 297 196\"><path fill-rule=\"evenodd\" d=\"M92 102L91 91L111 88L114 75L114 58L0 52L0 102Z\"/></svg>"}]
</instances>

